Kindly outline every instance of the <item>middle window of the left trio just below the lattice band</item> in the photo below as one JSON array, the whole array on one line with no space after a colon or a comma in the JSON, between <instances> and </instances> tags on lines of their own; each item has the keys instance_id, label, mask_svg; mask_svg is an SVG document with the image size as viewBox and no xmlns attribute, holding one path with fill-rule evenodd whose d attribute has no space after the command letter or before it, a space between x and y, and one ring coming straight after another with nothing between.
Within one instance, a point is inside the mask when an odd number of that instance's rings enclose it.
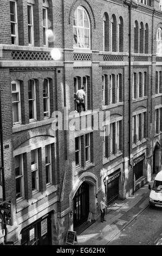
<instances>
[{"instance_id":1,"label":"middle window of the left trio just below the lattice band","mask_svg":"<svg viewBox=\"0 0 162 256\"><path fill-rule=\"evenodd\" d=\"M35 81L28 82L28 97L29 97L29 120L36 120L36 98L35 98Z\"/></svg>"}]
</instances>

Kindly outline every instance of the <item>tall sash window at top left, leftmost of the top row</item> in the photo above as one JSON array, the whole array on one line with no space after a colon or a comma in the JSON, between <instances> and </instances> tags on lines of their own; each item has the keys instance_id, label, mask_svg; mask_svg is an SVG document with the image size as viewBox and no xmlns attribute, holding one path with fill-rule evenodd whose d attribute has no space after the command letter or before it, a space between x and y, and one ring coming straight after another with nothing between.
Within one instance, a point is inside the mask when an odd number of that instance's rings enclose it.
<instances>
[{"instance_id":1,"label":"tall sash window at top left, leftmost of the top row","mask_svg":"<svg viewBox=\"0 0 162 256\"><path fill-rule=\"evenodd\" d=\"M18 44L17 2L10 1L11 44Z\"/></svg>"}]
</instances>

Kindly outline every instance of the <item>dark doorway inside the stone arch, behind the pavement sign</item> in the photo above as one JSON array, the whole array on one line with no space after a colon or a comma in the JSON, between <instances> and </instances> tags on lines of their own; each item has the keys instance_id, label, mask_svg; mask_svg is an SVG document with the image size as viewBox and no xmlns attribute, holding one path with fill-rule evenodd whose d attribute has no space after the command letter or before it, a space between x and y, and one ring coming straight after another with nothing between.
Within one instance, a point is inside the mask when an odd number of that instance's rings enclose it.
<instances>
[{"instance_id":1,"label":"dark doorway inside the stone arch, behind the pavement sign","mask_svg":"<svg viewBox=\"0 0 162 256\"><path fill-rule=\"evenodd\" d=\"M74 230L85 221L89 214L89 185L83 182L73 199L73 223Z\"/></svg>"}]
</instances>

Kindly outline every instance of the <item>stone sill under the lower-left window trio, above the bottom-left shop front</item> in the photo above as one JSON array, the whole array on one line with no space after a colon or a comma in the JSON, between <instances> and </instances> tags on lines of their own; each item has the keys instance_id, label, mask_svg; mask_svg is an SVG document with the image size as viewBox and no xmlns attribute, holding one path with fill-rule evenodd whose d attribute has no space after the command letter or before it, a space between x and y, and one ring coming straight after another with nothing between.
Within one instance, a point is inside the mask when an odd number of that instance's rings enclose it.
<instances>
[{"instance_id":1,"label":"stone sill under the lower-left window trio, above the bottom-left shop front","mask_svg":"<svg viewBox=\"0 0 162 256\"><path fill-rule=\"evenodd\" d=\"M27 199L22 199L22 200L18 200L16 202L16 213L22 211L23 209L29 207L30 205L33 205L35 203L37 203L39 200L49 196L50 194L54 193L57 191L57 186L55 185L50 185L47 187L47 190L42 192L37 192L34 193L33 197L30 198L29 200Z\"/></svg>"}]
</instances>

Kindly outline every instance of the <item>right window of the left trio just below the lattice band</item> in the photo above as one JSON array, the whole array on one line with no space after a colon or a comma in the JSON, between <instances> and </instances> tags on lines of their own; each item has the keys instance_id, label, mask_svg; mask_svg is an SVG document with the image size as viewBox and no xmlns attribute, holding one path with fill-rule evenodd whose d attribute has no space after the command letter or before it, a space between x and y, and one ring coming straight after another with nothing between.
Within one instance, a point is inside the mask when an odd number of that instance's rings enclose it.
<instances>
[{"instance_id":1,"label":"right window of the left trio just below the lattice band","mask_svg":"<svg viewBox=\"0 0 162 256\"><path fill-rule=\"evenodd\" d=\"M44 117L50 117L50 102L49 102L49 79L43 80L43 109Z\"/></svg>"}]
</instances>

